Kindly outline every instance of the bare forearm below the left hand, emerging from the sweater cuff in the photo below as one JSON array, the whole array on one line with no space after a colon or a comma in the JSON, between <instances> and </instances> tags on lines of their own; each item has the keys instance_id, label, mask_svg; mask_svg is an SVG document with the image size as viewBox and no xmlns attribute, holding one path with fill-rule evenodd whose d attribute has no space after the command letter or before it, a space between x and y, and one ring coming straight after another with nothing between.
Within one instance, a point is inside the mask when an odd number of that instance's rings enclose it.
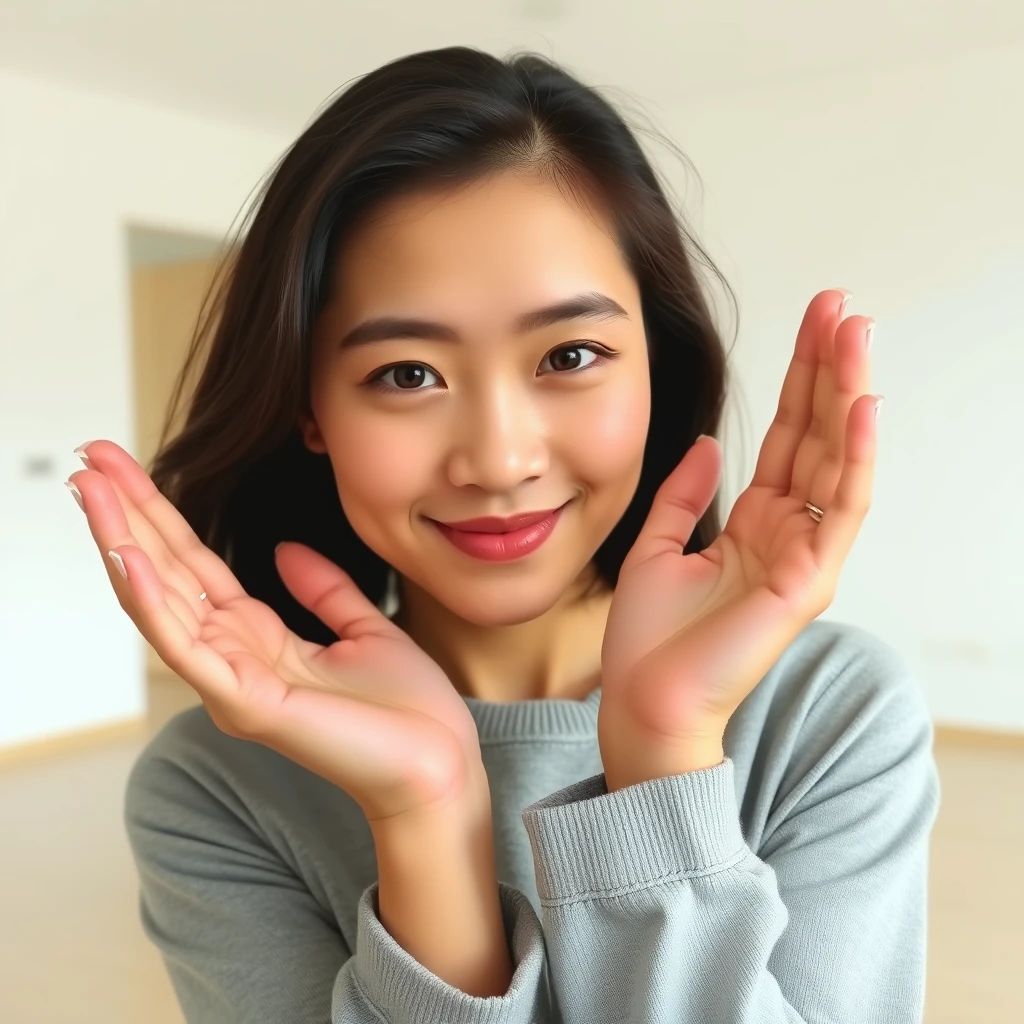
<instances>
[{"instance_id":1,"label":"bare forearm below the left hand, emerging from the sweater cuff","mask_svg":"<svg viewBox=\"0 0 1024 1024\"><path fill-rule=\"evenodd\" d=\"M381 924L428 971L470 995L503 995L512 963L502 921L482 766L446 807L372 824Z\"/></svg>"}]
</instances>

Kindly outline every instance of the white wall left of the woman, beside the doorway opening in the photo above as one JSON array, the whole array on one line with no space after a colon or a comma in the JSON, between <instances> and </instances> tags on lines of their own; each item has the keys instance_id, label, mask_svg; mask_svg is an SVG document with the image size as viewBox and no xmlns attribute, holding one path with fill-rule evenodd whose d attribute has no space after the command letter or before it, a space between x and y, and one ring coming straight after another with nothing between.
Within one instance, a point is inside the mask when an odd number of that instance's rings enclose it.
<instances>
[{"instance_id":1,"label":"white wall left of the woman, beside the doorway opening","mask_svg":"<svg viewBox=\"0 0 1024 1024\"><path fill-rule=\"evenodd\" d=\"M63 485L83 441L132 447L125 224L222 234L288 141L0 76L0 745L144 710L140 639Z\"/></svg>"}]
</instances>

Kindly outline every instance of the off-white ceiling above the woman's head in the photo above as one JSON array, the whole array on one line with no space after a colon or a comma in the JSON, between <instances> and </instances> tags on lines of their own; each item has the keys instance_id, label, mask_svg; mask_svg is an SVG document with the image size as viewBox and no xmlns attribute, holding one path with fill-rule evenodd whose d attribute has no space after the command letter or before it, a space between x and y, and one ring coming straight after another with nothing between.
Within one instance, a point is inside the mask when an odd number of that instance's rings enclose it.
<instances>
[{"instance_id":1,"label":"off-white ceiling above the woman's head","mask_svg":"<svg viewBox=\"0 0 1024 1024\"><path fill-rule=\"evenodd\" d=\"M0 68L274 133L454 44L538 50L649 108L1022 42L1020 0L0 0Z\"/></svg>"}]
</instances>

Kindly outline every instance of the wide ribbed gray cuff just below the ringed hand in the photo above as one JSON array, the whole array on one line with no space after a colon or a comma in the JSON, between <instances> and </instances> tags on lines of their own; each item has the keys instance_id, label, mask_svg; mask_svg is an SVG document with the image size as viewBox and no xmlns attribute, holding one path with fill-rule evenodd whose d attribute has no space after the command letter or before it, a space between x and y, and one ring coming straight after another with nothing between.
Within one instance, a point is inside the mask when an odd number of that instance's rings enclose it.
<instances>
[{"instance_id":1,"label":"wide ribbed gray cuff just below the ringed hand","mask_svg":"<svg viewBox=\"0 0 1024 1024\"><path fill-rule=\"evenodd\" d=\"M522 820L545 902L709 874L750 854L730 758L610 794L604 773L592 775L530 804Z\"/></svg>"}]
</instances>

